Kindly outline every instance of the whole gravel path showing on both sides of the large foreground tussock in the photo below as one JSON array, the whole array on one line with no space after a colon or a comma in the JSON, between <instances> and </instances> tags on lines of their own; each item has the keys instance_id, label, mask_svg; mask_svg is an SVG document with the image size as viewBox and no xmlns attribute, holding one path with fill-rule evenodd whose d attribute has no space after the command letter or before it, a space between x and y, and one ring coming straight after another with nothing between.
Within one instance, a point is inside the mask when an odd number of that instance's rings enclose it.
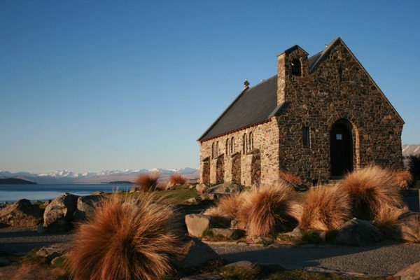
<instances>
[{"instance_id":1,"label":"whole gravel path showing on both sides of the large foreground tussock","mask_svg":"<svg viewBox=\"0 0 420 280\"><path fill-rule=\"evenodd\" d=\"M0 229L0 251L23 255L35 247L68 243L65 234L38 234L36 228ZM249 260L286 269L330 269L367 275L392 275L420 262L420 244L379 244L375 246L279 246L278 248L217 244L209 246L229 262Z\"/></svg>"}]
</instances>

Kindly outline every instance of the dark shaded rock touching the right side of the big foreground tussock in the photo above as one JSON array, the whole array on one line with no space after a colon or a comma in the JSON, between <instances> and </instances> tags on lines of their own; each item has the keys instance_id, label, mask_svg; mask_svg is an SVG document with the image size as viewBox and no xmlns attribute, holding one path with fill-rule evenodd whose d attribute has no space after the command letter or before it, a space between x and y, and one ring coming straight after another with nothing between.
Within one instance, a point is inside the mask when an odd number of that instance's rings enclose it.
<instances>
[{"instance_id":1,"label":"dark shaded rock touching the right side of the big foreground tussock","mask_svg":"<svg viewBox=\"0 0 420 280\"><path fill-rule=\"evenodd\" d=\"M196 238L188 238L179 260L176 260L176 265L181 268L197 267L209 260L220 258L207 244Z\"/></svg>"}]
</instances>

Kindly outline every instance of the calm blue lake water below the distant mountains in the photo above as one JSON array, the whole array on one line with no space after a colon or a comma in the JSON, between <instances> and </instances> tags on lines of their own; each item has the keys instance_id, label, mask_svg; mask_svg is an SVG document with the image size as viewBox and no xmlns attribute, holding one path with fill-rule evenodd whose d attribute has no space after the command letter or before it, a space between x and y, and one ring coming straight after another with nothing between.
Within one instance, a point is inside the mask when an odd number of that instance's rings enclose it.
<instances>
[{"instance_id":1,"label":"calm blue lake water below the distant mountains","mask_svg":"<svg viewBox=\"0 0 420 280\"><path fill-rule=\"evenodd\" d=\"M113 190L130 190L132 185L0 185L0 203L15 202L26 198L34 202L35 200L45 201L54 200L62 193L73 195L90 195L97 190L105 193L112 193Z\"/></svg>"}]
</instances>

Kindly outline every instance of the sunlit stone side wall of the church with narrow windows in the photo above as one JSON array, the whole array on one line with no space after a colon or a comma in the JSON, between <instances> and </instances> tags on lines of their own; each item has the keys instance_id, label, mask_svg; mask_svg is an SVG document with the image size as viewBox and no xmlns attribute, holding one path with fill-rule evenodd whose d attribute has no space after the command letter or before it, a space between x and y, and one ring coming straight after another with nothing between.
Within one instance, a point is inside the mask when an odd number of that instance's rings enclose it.
<instances>
[{"instance_id":1,"label":"sunlit stone side wall of the church with narrow windows","mask_svg":"<svg viewBox=\"0 0 420 280\"><path fill-rule=\"evenodd\" d=\"M234 139L233 149L226 145L228 139L232 141L232 138ZM217 156L213 151L214 146L218 146ZM209 169L204 169L206 160L210 162ZM272 118L267 123L201 142L200 178L202 181L206 177L207 170L210 170L209 183L221 181L220 178L218 179L221 171L217 168L222 165L221 160L224 167L224 182L233 181L244 186L252 186L253 183L272 184L279 175L279 129L276 119Z\"/></svg>"}]
</instances>

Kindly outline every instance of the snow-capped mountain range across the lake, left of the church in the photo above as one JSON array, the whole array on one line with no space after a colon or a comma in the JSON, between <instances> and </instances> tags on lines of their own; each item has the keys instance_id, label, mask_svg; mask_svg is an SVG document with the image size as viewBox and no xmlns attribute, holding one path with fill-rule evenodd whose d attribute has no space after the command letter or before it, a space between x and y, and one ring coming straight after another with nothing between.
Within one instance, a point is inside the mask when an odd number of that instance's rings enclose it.
<instances>
[{"instance_id":1,"label":"snow-capped mountain range across the lake, left of the church","mask_svg":"<svg viewBox=\"0 0 420 280\"><path fill-rule=\"evenodd\" d=\"M69 170L58 170L48 174L32 174L28 172L11 173L0 169L0 179L14 178L27 181L36 182L38 184L97 184L109 183L116 181L135 181L140 174L149 172L160 172L160 181L165 181L172 174L183 174L188 179L198 179L200 176L197 168L182 168L182 169L125 169L121 170L106 170L102 172L85 172L74 173Z\"/></svg>"}]
</instances>

